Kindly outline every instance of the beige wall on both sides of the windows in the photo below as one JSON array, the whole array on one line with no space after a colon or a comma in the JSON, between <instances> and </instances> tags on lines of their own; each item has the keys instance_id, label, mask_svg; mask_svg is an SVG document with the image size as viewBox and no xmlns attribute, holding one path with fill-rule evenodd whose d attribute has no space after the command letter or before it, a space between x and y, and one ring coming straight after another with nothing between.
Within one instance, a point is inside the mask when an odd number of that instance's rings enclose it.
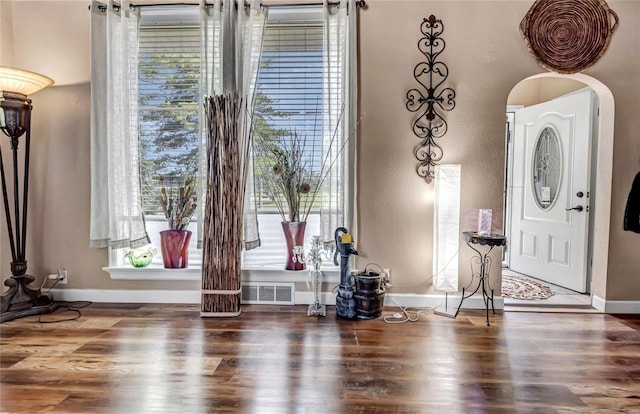
<instances>
[{"instance_id":1,"label":"beige wall on both sides of the windows","mask_svg":"<svg viewBox=\"0 0 640 414\"><path fill-rule=\"evenodd\" d=\"M8 3L8 6L7 4ZM626 196L640 170L640 2L609 1L620 26L603 58L586 71L615 97L612 216L606 299L640 300L640 235L622 231ZM70 272L69 288L197 289L197 283L124 282L102 272L106 252L89 245L89 12L85 1L16 2L11 8L13 63L45 73L58 86L33 96L34 133L28 260L41 276L58 266ZM415 173L411 132L415 114L406 92L421 61L422 19L444 21L446 82L456 108L446 115L440 140L445 163L462 164L461 230L473 229L478 208L494 211L501 230L504 113L520 80L544 72L529 55L518 24L529 1L368 0L360 12L358 239L364 257L392 270L394 291L426 292L432 275L433 184ZM2 14L3 49L6 13ZM38 30L32 30L38 27ZM4 233L2 235L4 236ZM1 246L6 246L3 240ZM5 253L3 252L3 255ZM469 282L469 249L460 248L461 284ZM496 257L498 259L498 257ZM492 270L497 282L499 261ZM3 274L8 263L2 263Z\"/></svg>"}]
</instances>

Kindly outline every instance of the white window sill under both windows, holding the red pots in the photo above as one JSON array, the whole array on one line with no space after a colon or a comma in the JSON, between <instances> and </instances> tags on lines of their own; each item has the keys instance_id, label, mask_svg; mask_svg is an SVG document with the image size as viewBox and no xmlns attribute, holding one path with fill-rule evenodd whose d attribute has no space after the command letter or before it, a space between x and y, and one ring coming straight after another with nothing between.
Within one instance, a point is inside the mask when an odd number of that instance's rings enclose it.
<instances>
[{"instance_id":1,"label":"white window sill under both windows, holding the red pots","mask_svg":"<svg viewBox=\"0 0 640 414\"><path fill-rule=\"evenodd\" d=\"M148 267L136 269L131 266L103 267L114 280L148 280L148 281L185 281L201 279L200 266L190 266L185 269L165 269L162 265L151 264ZM323 266L323 281L327 283L340 282L340 269L335 266ZM309 272L284 270L280 266L251 266L242 269L243 282L306 282Z\"/></svg>"}]
</instances>

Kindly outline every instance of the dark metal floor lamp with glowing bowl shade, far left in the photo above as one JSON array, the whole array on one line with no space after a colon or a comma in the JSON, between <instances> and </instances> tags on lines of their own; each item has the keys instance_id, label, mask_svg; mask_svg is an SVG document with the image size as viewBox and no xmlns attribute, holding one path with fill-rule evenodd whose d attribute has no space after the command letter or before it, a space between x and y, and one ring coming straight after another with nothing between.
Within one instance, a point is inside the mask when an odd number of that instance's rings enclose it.
<instances>
[{"instance_id":1,"label":"dark metal floor lamp with glowing bowl shade, far left","mask_svg":"<svg viewBox=\"0 0 640 414\"><path fill-rule=\"evenodd\" d=\"M4 170L3 145L0 143L2 199L12 259L11 277L4 282L9 289L0 297L0 322L49 313L57 307L52 295L43 294L39 288L30 286L35 278L27 274L25 255L32 108L31 100L27 98L27 95L52 84L53 80L46 76L0 66L0 129L9 137L13 164L13 177L9 177L13 181L13 194L10 200ZM23 135L24 138L21 139ZM24 143L24 150L22 154L19 154L18 147L21 142ZM4 146L6 147L6 144ZM20 169L21 162L22 169ZM22 182L20 182L20 171L22 171ZM10 204L10 201L13 205Z\"/></svg>"}]
</instances>

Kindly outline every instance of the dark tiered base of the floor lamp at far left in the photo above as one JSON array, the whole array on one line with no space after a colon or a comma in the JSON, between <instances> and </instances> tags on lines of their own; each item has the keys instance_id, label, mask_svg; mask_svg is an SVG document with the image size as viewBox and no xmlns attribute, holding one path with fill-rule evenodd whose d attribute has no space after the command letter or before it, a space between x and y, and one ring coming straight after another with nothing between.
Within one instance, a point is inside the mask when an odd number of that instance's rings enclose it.
<instances>
[{"instance_id":1,"label":"dark tiered base of the floor lamp at far left","mask_svg":"<svg viewBox=\"0 0 640 414\"><path fill-rule=\"evenodd\" d=\"M29 286L33 281L34 277L29 275L12 276L5 280L4 284L9 286L9 290L0 297L2 310L0 323L31 315L51 313L57 309L58 304L53 300L53 295L43 294L40 289Z\"/></svg>"}]
</instances>

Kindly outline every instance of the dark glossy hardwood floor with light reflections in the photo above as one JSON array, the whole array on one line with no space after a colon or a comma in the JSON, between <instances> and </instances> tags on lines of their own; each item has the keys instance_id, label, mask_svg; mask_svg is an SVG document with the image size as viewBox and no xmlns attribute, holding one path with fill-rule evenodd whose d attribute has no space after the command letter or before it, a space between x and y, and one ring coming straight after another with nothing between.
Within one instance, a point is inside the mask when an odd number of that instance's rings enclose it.
<instances>
[{"instance_id":1,"label":"dark glossy hardwood floor with light reflections","mask_svg":"<svg viewBox=\"0 0 640 414\"><path fill-rule=\"evenodd\" d=\"M385 315L397 312L385 309ZM43 320L72 316L56 312ZM640 413L640 315L92 304L0 325L3 413Z\"/></svg>"}]
</instances>

